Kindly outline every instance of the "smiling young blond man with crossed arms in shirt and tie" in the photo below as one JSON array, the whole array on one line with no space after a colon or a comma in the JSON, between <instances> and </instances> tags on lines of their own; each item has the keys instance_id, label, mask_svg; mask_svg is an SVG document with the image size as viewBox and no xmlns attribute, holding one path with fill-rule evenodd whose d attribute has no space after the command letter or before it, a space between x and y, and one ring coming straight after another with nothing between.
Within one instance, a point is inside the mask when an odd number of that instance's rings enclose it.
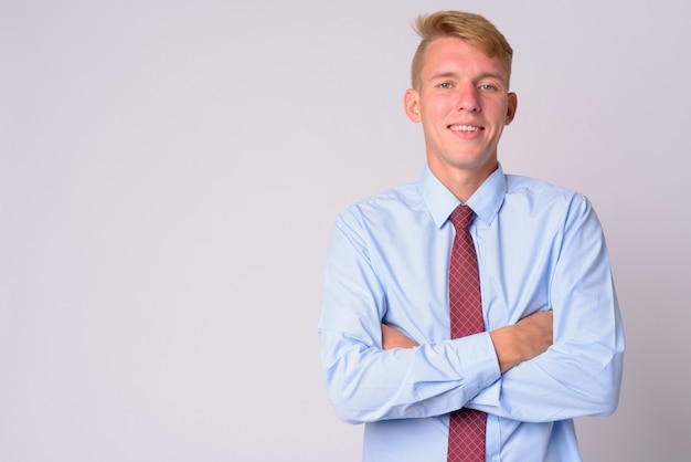
<instances>
[{"instance_id":1,"label":"smiling young blond man with crossed arms in shirt and tie","mask_svg":"<svg viewBox=\"0 0 691 462\"><path fill-rule=\"evenodd\" d=\"M572 419L612 413L621 380L600 224L583 196L502 171L518 104L503 35L455 11L417 31L404 105L426 166L336 221L319 319L329 396L341 419L366 423L364 461L470 460L451 455L461 408L480 416L477 460L580 461ZM479 332L459 338L449 311L472 308L449 302L457 208L471 209L481 300Z\"/></svg>"}]
</instances>

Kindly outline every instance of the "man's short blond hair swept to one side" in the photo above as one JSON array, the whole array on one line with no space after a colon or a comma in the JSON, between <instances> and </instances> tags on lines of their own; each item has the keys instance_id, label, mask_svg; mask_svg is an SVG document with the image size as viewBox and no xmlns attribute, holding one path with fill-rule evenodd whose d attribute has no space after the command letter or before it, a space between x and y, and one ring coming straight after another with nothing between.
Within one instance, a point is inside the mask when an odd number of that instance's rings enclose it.
<instances>
[{"instance_id":1,"label":"man's short blond hair swept to one side","mask_svg":"<svg viewBox=\"0 0 691 462\"><path fill-rule=\"evenodd\" d=\"M511 76L513 50L501 32L479 14L463 11L439 11L429 15L419 15L415 21L415 31L422 41L413 56L411 80L413 88L419 90L421 70L427 45L435 39L451 36L477 46L489 57L499 57L507 66L507 87Z\"/></svg>"}]
</instances>

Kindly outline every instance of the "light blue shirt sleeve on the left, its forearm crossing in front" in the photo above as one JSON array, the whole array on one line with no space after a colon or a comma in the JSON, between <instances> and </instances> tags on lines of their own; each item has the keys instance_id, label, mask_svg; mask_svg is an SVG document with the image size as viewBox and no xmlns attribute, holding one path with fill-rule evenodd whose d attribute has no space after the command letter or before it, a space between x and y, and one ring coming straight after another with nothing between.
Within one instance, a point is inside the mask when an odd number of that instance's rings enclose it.
<instances>
[{"instance_id":1,"label":"light blue shirt sleeve on the left, its forearm crossing in front","mask_svg":"<svg viewBox=\"0 0 691 462\"><path fill-rule=\"evenodd\" d=\"M359 423L459 409L499 378L489 334L383 350L386 294L362 232L352 216L337 220L325 271L318 327L337 414Z\"/></svg>"}]
</instances>

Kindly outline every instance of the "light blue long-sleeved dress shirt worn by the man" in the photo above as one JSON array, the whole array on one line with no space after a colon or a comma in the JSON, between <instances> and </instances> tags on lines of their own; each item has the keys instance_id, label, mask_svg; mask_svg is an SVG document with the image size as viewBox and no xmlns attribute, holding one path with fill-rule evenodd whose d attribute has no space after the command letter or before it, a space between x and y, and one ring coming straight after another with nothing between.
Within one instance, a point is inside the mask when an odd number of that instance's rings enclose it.
<instances>
[{"instance_id":1,"label":"light blue long-sleeved dress shirt worn by the man","mask_svg":"<svg viewBox=\"0 0 691 462\"><path fill-rule=\"evenodd\" d=\"M458 206L425 167L350 207L328 252L319 335L337 414L365 422L365 462L445 462L448 412L487 412L487 461L581 461L573 418L618 402L624 330L599 221L586 198L499 167L468 200L485 333L449 339ZM489 330L554 311L554 344L503 375ZM382 349L380 323L421 344Z\"/></svg>"}]
</instances>

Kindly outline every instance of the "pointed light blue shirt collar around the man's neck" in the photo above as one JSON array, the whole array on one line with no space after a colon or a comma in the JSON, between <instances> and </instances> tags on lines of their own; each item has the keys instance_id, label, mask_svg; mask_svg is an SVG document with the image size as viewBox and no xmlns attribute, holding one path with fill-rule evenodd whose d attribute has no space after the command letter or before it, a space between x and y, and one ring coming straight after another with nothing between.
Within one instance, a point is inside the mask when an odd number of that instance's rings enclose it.
<instances>
[{"instance_id":1,"label":"pointed light blue shirt collar around the man's neck","mask_svg":"<svg viewBox=\"0 0 691 462\"><path fill-rule=\"evenodd\" d=\"M427 209L437 227L442 228L460 201L434 176L426 164L419 183ZM499 165L466 204L470 206L475 214L489 227L499 213L506 193L507 178Z\"/></svg>"}]
</instances>

